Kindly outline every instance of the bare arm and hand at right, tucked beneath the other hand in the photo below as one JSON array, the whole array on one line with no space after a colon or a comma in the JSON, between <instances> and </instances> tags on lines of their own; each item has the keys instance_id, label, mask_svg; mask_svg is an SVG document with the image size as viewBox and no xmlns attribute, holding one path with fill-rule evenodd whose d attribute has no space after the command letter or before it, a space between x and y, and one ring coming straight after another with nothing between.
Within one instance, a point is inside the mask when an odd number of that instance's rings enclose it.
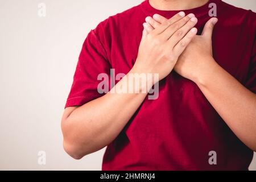
<instances>
[{"instance_id":1,"label":"bare arm and hand at right, tucked beneath the other hand","mask_svg":"<svg viewBox=\"0 0 256 182\"><path fill-rule=\"evenodd\" d=\"M166 18L154 15L146 19L147 32ZM256 94L245 88L220 67L212 55L212 30L216 18L205 24L202 35L196 35L179 57L174 70L199 86L222 119L251 150L256 151Z\"/></svg>"}]
</instances>

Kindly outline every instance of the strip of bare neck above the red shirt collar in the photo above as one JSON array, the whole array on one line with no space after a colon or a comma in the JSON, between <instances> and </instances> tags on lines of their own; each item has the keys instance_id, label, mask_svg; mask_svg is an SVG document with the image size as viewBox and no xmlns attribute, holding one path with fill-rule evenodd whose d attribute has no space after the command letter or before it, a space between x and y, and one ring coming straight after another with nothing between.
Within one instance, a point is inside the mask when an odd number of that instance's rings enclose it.
<instances>
[{"instance_id":1,"label":"strip of bare neck above the red shirt collar","mask_svg":"<svg viewBox=\"0 0 256 182\"><path fill-rule=\"evenodd\" d=\"M189 10L205 5L209 0L149 0L152 7L158 10Z\"/></svg>"}]
</instances>

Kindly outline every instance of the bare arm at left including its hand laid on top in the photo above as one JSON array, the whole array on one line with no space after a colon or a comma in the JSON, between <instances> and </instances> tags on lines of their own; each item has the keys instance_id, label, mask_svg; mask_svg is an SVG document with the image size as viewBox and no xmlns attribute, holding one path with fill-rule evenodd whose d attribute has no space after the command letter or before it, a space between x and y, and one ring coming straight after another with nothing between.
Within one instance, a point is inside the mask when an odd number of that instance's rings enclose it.
<instances>
[{"instance_id":1,"label":"bare arm at left including its hand laid on top","mask_svg":"<svg viewBox=\"0 0 256 182\"><path fill-rule=\"evenodd\" d=\"M174 68L179 55L196 35L196 19L184 13L177 14L151 34L143 31L137 61L126 75L132 73L159 74L159 80ZM179 31L180 30L180 31ZM155 84L155 80L147 80ZM118 82L113 89L130 85L126 79ZM147 93L108 93L80 107L65 109L61 128L64 149L75 159L100 150L112 142L141 105Z\"/></svg>"}]
</instances>

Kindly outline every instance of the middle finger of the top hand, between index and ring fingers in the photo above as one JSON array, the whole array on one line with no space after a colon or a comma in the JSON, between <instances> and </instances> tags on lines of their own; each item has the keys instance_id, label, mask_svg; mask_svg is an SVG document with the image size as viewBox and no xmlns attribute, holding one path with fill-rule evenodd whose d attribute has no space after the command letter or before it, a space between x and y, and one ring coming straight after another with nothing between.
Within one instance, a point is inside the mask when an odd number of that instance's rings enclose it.
<instances>
[{"instance_id":1,"label":"middle finger of the top hand, between index and ring fingers","mask_svg":"<svg viewBox=\"0 0 256 182\"><path fill-rule=\"evenodd\" d=\"M166 28L162 34L160 34L161 39L168 40L171 38L171 36L179 30L181 27L183 27L191 18L195 17L194 14L189 14L185 16L184 18L180 19L179 21L171 24L170 27ZM192 27L191 27L192 28ZM155 29L156 30L156 29Z\"/></svg>"}]
</instances>

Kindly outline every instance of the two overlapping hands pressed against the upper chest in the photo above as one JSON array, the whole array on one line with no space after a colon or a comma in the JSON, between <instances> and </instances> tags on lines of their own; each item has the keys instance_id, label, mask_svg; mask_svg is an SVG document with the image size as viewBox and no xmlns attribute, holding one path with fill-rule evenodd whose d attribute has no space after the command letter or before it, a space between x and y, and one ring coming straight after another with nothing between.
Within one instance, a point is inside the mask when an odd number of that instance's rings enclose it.
<instances>
[{"instance_id":1,"label":"two overlapping hands pressed against the upper chest","mask_svg":"<svg viewBox=\"0 0 256 182\"><path fill-rule=\"evenodd\" d=\"M140 73L159 73L159 80L172 69L179 75L197 81L214 62L212 32L217 18L205 24L203 33L197 34L197 18L184 12L166 19L155 14L143 23L143 35L134 69Z\"/></svg>"}]
</instances>

